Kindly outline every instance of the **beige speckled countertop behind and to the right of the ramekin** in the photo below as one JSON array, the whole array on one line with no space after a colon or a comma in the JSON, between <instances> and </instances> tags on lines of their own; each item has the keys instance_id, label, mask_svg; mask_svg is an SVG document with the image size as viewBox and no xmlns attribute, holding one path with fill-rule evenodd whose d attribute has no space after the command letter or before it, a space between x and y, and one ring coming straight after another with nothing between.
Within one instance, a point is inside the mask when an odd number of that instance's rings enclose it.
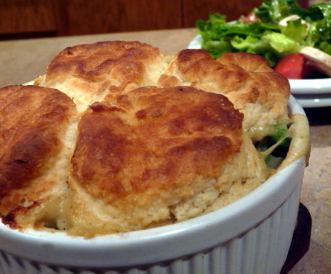
<instances>
[{"instance_id":1,"label":"beige speckled countertop behind and to the right of the ramekin","mask_svg":"<svg viewBox=\"0 0 331 274\"><path fill-rule=\"evenodd\" d=\"M185 49L194 36L192 29L173 29L0 42L0 87L22 84L44 74L52 58L70 45L101 40L140 40L172 55ZM310 249L289 273L328 274L331 273L331 107L309 108L306 113L312 148L301 201L310 212L313 227Z\"/></svg>"}]
</instances>

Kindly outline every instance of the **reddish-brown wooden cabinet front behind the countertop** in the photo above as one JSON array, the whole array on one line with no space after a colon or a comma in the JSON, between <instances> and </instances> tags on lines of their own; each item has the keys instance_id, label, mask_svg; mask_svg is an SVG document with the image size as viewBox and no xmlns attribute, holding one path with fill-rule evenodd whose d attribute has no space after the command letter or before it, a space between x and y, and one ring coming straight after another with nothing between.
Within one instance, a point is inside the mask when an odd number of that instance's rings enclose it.
<instances>
[{"instance_id":1,"label":"reddish-brown wooden cabinet front behind the countertop","mask_svg":"<svg viewBox=\"0 0 331 274\"><path fill-rule=\"evenodd\" d=\"M0 0L0 40L195 27L209 13L228 21L262 0ZM305 5L307 1L298 1Z\"/></svg>"}]
</instances>

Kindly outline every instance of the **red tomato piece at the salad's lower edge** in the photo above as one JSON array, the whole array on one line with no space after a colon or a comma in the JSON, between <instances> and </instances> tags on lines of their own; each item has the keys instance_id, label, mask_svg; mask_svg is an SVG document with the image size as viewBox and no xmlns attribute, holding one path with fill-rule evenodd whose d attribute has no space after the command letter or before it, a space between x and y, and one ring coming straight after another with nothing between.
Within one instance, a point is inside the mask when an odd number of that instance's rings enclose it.
<instances>
[{"instance_id":1,"label":"red tomato piece at the salad's lower edge","mask_svg":"<svg viewBox=\"0 0 331 274\"><path fill-rule=\"evenodd\" d=\"M304 55L293 53L278 61L275 71L288 79L302 79L304 73Z\"/></svg>"}]
</instances>

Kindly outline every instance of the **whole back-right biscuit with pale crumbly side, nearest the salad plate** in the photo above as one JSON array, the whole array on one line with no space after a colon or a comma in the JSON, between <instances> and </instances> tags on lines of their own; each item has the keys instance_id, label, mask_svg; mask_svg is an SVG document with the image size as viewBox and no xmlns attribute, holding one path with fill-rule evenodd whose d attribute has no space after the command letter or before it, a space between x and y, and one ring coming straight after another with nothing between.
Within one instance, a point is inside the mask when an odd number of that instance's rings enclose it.
<instances>
[{"instance_id":1,"label":"whole back-right biscuit with pale crumbly side, nearest the salad plate","mask_svg":"<svg viewBox=\"0 0 331 274\"><path fill-rule=\"evenodd\" d=\"M158 86L178 85L228 97L244 114L243 128L253 139L262 127L289 123L289 82L260 55L226 53L215 60L204 49L184 49L158 82Z\"/></svg>"}]
</instances>

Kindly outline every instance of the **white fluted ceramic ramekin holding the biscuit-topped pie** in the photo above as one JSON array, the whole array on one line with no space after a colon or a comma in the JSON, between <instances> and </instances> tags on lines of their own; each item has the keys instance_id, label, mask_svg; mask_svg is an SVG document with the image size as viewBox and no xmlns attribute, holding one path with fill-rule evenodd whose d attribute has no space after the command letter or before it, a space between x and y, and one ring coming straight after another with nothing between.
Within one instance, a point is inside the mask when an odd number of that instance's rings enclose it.
<instances>
[{"instance_id":1,"label":"white fluted ceramic ramekin holding the biscuit-topped pie","mask_svg":"<svg viewBox=\"0 0 331 274\"><path fill-rule=\"evenodd\" d=\"M291 97L292 113L302 113ZM1 274L279 274L295 228L305 159L249 195L197 218L137 232L72 238L0 225Z\"/></svg>"}]
</instances>

